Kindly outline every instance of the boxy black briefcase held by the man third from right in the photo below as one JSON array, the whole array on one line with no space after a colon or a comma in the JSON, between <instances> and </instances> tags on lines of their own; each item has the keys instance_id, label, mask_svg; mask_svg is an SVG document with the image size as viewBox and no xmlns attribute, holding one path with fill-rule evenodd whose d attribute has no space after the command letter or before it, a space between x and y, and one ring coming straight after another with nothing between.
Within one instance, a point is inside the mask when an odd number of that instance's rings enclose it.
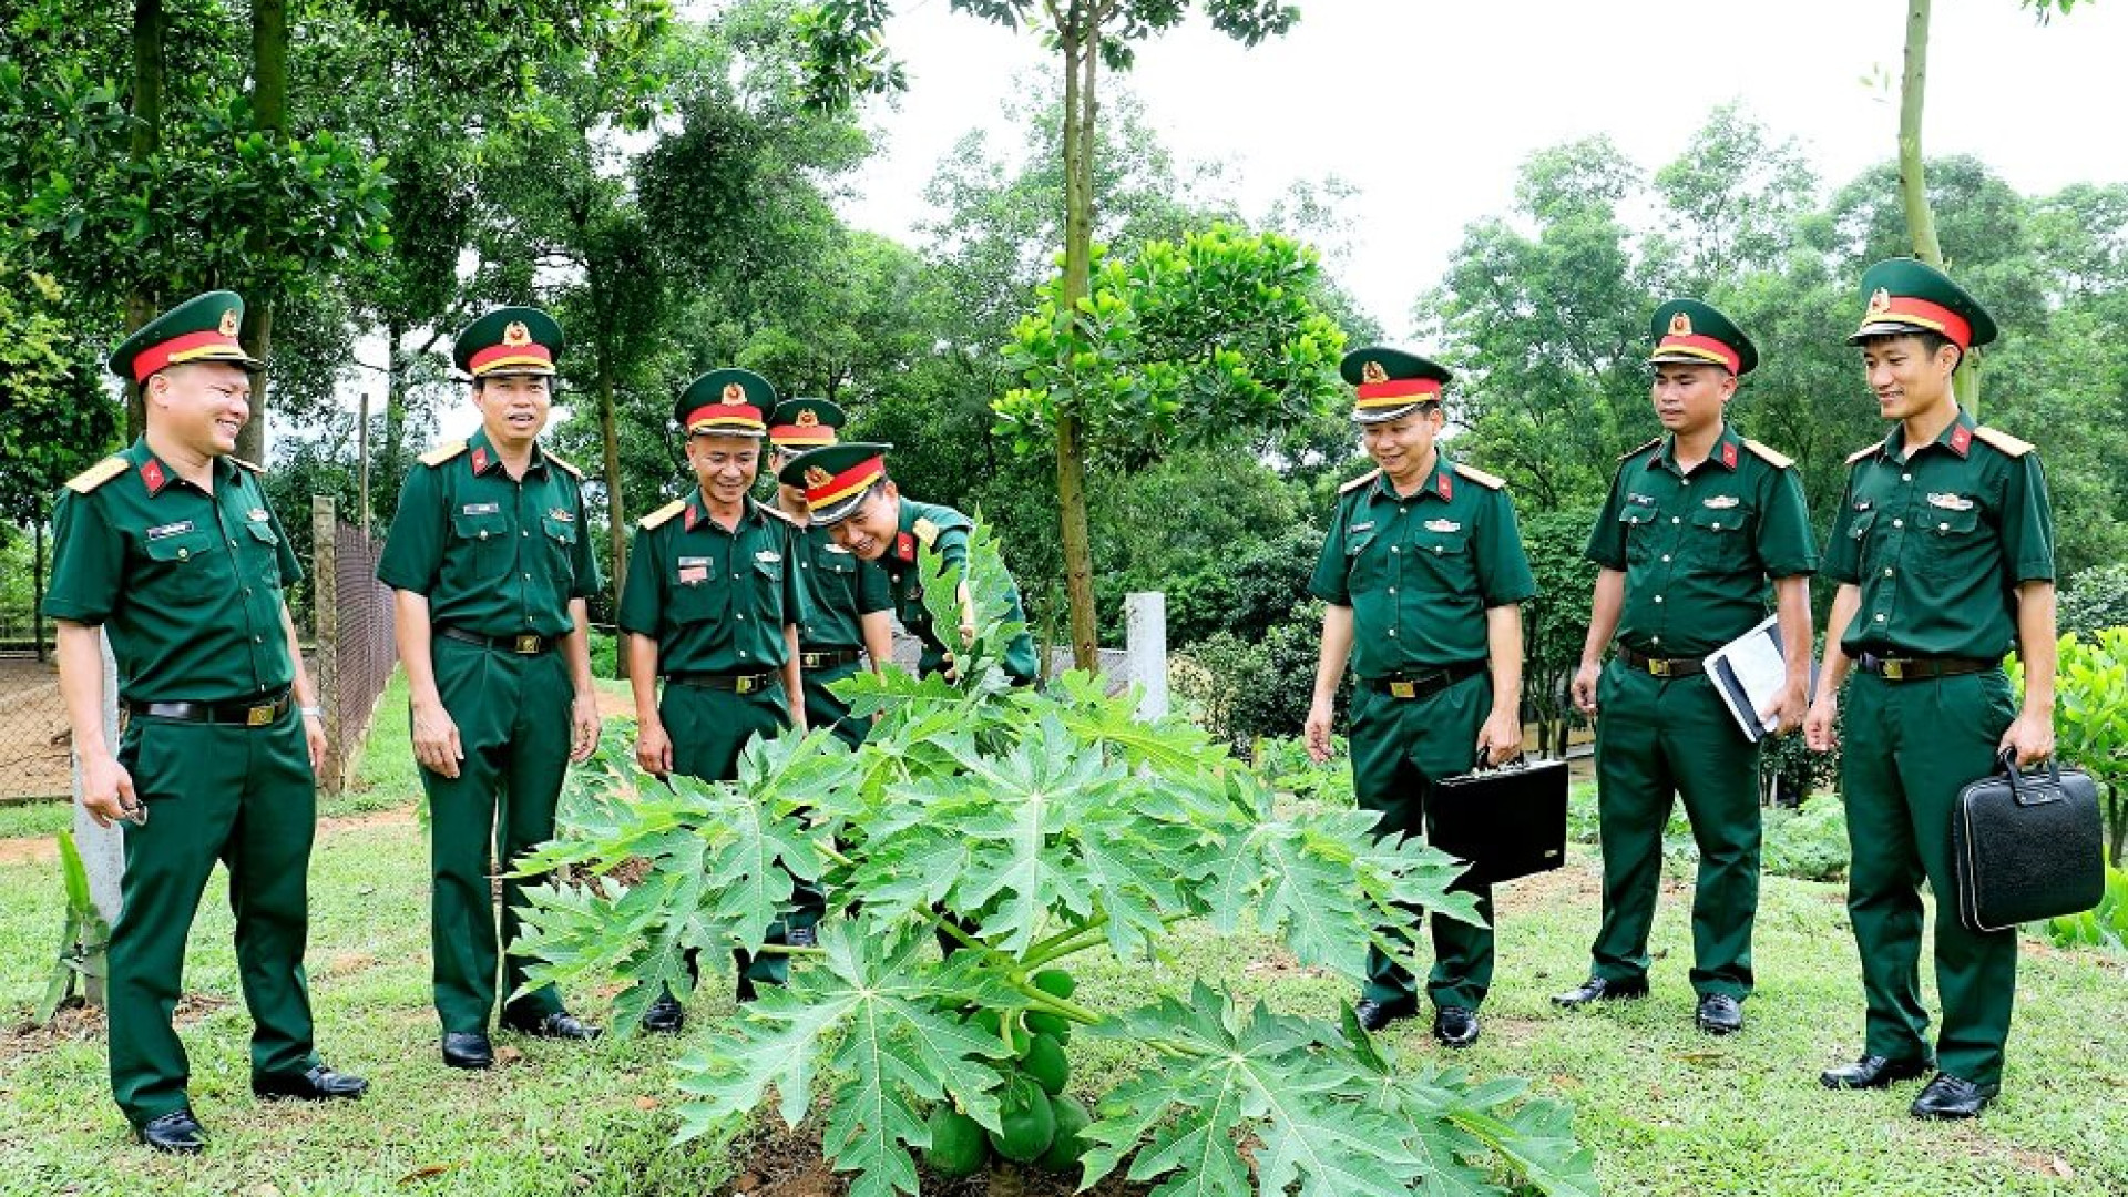
<instances>
[{"instance_id":1,"label":"boxy black briefcase held by the man third from right","mask_svg":"<svg viewBox=\"0 0 2128 1197\"><path fill-rule=\"evenodd\" d=\"M1428 805L1428 841L1470 860L1468 884L1513 882L1566 863L1564 760L1445 777Z\"/></svg>"}]
</instances>

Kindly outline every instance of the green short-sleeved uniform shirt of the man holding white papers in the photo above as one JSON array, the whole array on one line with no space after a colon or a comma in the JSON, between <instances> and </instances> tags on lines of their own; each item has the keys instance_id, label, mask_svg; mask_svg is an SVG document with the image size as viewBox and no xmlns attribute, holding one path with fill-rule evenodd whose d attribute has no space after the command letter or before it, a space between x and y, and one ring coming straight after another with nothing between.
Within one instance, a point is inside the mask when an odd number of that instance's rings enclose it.
<instances>
[{"instance_id":1,"label":"green short-sleeved uniform shirt of the man holding white papers","mask_svg":"<svg viewBox=\"0 0 2128 1197\"><path fill-rule=\"evenodd\" d=\"M1766 618L1766 579L1817 571L1802 483L1788 458L1724 424L1681 473L1677 439L1626 454L1587 560L1626 575L1617 641L1647 656L1705 656Z\"/></svg>"}]
</instances>

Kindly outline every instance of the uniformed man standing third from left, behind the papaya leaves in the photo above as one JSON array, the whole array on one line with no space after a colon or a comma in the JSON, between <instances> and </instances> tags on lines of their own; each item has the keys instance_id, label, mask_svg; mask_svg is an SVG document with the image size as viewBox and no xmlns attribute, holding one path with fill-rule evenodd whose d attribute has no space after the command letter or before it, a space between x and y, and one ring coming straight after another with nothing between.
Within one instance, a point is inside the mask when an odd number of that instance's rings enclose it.
<instances>
[{"instance_id":1,"label":"uniformed man standing third from left, behind the papaya leaves","mask_svg":"<svg viewBox=\"0 0 2128 1197\"><path fill-rule=\"evenodd\" d=\"M775 388L753 371L709 371L672 409L696 488L643 518L617 616L636 699L636 763L660 777L726 782L738 777L738 754L755 735L807 731L794 528L749 494L762 460L762 413L775 403ZM798 886L794 897L796 909L770 931L770 944L811 946L824 895ZM741 954L738 999L787 978L783 952ZM683 1024L670 990L643 1014L645 1031Z\"/></svg>"}]
</instances>

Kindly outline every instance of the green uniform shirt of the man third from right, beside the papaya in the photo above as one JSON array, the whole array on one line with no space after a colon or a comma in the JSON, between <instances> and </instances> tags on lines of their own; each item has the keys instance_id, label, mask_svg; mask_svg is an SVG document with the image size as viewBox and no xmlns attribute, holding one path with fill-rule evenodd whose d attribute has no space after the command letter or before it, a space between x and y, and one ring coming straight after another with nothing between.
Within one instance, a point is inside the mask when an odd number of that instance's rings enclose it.
<instances>
[{"instance_id":1,"label":"green uniform shirt of the man third from right, beside the papaya","mask_svg":"<svg viewBox=\"0 0 2128 1197\"><path fill-rule=\"evenodd\" d=\"M1351 607L1351 671L1377 679L1487 658L1485 609L1536 594L1500 479L1434 454L1417 492L1345 483L1309 592Z\"/></svg>"}]
</instances>

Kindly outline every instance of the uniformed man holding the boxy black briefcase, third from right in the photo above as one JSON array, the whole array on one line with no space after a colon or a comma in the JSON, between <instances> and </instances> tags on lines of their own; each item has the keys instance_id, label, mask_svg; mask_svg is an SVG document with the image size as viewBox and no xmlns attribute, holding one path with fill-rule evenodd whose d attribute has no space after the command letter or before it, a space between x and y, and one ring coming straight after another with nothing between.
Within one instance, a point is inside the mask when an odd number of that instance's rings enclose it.
<instances>
[{"instance_id":1,"label":"uniformed man holding the boxy black briefcase, third from right","mask_svg":"<svg viewBox=\"0 0 2128 1197\"><path fill-rule=\"evenodd\" d=\"M1309 754L1330 758L1332 701L1347 660L1351 777L1381 835L1419 835L1443 777L1522 752L1522 601L1536 594L1504 483L1451 462L1436 437L1449 371L1400 349L1345 354L1358 386L1373 473L1341 488L1309 592L1324 609L1321 658L1309 705ZM1432 918L1426 993L1434 1037L1466 1048L1492 986L1492 886L1477 895L1485 927ZM1358 1016L1368 1031L1417 1014L1415 982L1368 950Z\"/></svg>"}]
</instances>

